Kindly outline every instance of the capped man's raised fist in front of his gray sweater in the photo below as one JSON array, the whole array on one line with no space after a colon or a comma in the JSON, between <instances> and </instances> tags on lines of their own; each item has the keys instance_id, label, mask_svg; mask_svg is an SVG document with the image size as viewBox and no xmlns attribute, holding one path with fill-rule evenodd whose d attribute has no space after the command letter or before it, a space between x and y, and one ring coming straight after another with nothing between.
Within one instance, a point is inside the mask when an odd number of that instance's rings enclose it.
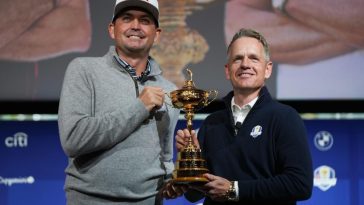
<instances>
[{"instance_id":1,"label":"capped man's raised fist in front of his gray sweater","mask_svg":"<svg viewBox=\"0 0 364 205\"><path fill-rule=\"evenodd\" d=\"M159 109L164 103L164 91L160 87L146 86L139 95L147 110Z\"/></svg>"}]
</instances>

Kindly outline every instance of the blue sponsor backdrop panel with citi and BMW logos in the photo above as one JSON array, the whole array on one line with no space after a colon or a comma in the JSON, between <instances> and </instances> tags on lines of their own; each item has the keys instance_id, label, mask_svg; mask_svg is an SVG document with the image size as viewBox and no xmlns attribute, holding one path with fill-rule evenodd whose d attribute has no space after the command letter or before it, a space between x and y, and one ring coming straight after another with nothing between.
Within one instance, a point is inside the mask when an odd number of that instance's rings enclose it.
<instances>
[{"instance_id":1,"label":"blue sponsor backdrop panel with citi and BMW logos","mask_svg":"<svg viewBox=\"0 0 364 205\"><path fill-rule=\"evenodd\" d=\"M195 120L195 128L200 123ZM305 124L315 186L312 198L299 204L364 205L364 120ZM177 128L184 127L180 120ZM0 121L1 205L64 205L66 166L56 121ZM191 203L180 197L165 204Z\"/></svg>"}]
</instances>

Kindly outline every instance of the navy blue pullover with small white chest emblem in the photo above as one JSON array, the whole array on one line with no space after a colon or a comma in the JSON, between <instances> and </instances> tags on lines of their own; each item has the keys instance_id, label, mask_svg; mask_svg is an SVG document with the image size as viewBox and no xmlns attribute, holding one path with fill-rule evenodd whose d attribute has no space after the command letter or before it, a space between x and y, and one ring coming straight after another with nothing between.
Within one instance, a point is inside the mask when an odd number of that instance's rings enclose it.
<instances>
[{"instance_id":1,"label":"navy blue pullover with small white chest emblem","mask_svg":"<svg viewBox=\"0 0 364 205\"><path fill-rule=\"evenodd\" d=\"M209 115L198 132L210 173L238 181L240 201L232 204L294 205L297 200L308 199L313 184L312 160L299 114L273 100L263 87L242 126L236 129L232 97L231 92L224 98L226 108ZM200 198L189 194L186 198L191 201ZM206 198L204 204L220 203Z\"/></svg>"}]
</instances>

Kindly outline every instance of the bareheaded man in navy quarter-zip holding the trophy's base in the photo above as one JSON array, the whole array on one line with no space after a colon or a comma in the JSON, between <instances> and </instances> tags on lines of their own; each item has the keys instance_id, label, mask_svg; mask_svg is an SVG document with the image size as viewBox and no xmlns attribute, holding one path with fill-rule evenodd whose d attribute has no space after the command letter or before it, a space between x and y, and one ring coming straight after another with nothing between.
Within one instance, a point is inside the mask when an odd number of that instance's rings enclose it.
<instances>
[{"instance_id":1,"label":"bareheaded man in navy quarter-zip holding the trophy's base","mask_svg":"<svg viewBox=\"0 0 364 205\"><path fill-rule=\"evenodd\" d=\"M203 186L185 193L204 204L294 205L312 193L312 160L306 129L299 114L270 96L265 80L272 73L265 38L241 29L228 47L226 78L233 91L225 109L203 122L195 145L202 149L210 171ZM191 136L178 130L179 151Z\"/></svg>"}]
</instances>

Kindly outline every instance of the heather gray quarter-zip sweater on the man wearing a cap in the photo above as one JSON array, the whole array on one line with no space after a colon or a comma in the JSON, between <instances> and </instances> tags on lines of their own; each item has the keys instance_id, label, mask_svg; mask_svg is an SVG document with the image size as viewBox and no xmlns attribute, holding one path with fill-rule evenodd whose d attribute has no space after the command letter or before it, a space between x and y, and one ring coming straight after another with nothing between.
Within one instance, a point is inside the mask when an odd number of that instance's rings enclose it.
<instances>
[{"instance_id":1,"label":"heather gray quarter-zip sweater on the man wearing a cap","mask_svg":"<svg viewBox=\"0 0 364 205\"><path fill-rule=\"evenodd\" d=\"M130 204L153 198L158 183L174 168L179 110L166 97L164 106L150 113L136 92L158 86L169 93L175 85L162 77L153 59L148 78L135 85L115 57L112 46L103 57L76 58L65 74L58 124L69 157L69 204Z\"/></svg>"}]
</instances>

